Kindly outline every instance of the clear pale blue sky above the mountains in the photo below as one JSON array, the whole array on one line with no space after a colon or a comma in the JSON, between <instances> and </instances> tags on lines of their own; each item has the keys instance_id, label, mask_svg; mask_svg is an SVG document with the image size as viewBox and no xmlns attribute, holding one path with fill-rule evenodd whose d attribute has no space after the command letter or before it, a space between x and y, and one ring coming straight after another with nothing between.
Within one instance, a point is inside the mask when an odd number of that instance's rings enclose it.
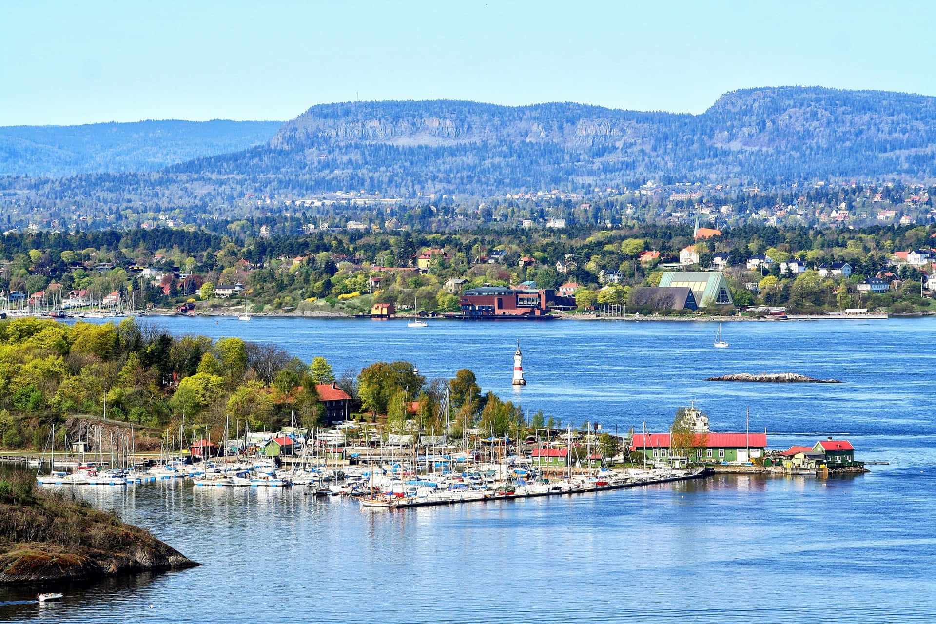
<instances>
[{"instance_id":1,"label":"clear pale blue sky above the mountains","mask_svg":"<svg viewBox=\"0 0 936 624\"><path fill-rule=\"evenodd\" d=\"M936 3L0 1L0 125L286 120L323 102L699 113L818 84L936 95Z\"/></svg>"}]
</instances>

